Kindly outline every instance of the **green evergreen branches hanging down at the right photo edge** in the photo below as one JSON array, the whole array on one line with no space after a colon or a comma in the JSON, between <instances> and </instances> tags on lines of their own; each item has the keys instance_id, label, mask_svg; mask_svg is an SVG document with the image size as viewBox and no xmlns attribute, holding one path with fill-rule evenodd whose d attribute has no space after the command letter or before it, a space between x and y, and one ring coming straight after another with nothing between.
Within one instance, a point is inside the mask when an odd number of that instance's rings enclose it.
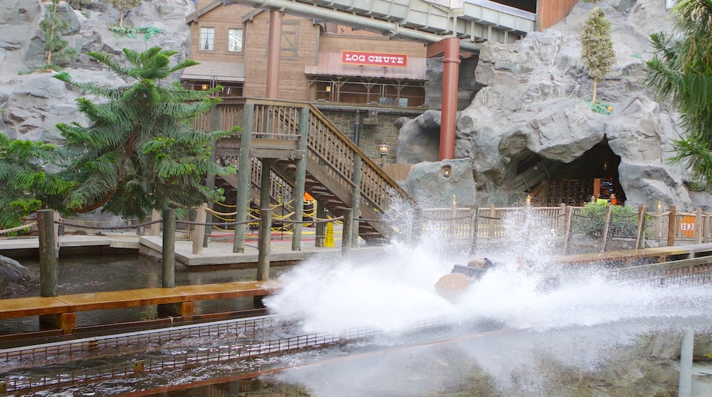
<instances>
[{"instance_id":1,"label":"green evergreen branches hanging down at the right photo edge","mask_svg":"<svg viewBox=\"0 0 712 397\"><path fill-rule=\"evenodd\" d=\"M673 163L693 179L712 179L712 0L679 0L672 9L675 34L650 36L654 56L645 83L679 110L684 134L673 142Z\"/></svg>"}]
</instances>

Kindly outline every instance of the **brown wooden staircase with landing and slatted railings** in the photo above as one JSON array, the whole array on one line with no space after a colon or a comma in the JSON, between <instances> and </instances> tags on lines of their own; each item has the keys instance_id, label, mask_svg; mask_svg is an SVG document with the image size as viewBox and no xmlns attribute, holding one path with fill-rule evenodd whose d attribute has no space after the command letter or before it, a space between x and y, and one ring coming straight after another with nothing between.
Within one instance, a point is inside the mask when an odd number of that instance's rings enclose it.
<instances>
[{"instance_id":1,"label":"brown wooden staircase with landing and slatted railings","mask_svg":"<svg viewBox=\"0 0 712 397\"><path fill-rule=\"evenodd\" d=\"M304 117L305 112L308 117ZM300 117L308 126L300 128ZM359 221L358 233L365 240L384 240L392 235L392 226L382 221L392 200L415 206L395 181L308 102L228 98L194 120L196 129L204 131L226 130L235 125L244 130L217 142L217 157L235 160L241 156L243 146L249 147L253 159L251 186L261 186L261 171L255 159L271 159L271 196L276 196L273 189L281 185L280 189L286 191L279 194L285 199L293 196L289 188L293 190L298 180L297 163L305 159L305 191L334 216L342 216L346 208L358 207L360 213L354 218ZM300 142L304 137L305 145ZM246 138L248 142L243 142ZM240 189L238 178L227 176L224 180Z\"/></svg>"}]
</instances>

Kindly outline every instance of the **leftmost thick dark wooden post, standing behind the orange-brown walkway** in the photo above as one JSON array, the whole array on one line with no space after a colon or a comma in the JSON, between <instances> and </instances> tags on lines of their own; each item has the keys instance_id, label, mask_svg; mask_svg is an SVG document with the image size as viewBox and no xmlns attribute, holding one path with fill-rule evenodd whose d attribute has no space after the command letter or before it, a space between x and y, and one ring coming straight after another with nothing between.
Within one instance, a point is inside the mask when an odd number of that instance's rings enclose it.
<instances>
[{"instance_id":1,"label":"leftmost thick dark wooden post, standing behind the orange-brown walkway","mask_svg":"<svg viewBox=\"0 0 712 397\"><path fill-rule=\"evenodd\" d=\"M40 243L40 296L56 297L59 260L53 210L37 211L37 229Z\"/></svg>"}]
</instances>

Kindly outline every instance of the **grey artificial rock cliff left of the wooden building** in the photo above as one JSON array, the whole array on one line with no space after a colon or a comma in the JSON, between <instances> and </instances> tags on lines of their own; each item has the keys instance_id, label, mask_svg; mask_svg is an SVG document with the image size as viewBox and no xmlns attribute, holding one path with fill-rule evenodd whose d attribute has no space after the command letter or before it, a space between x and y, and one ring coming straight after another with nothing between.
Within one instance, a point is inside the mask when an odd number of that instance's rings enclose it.
<instances>
[{"instance_id":1,"label":"grey artificial rock cliff left of the wooden building","mask_svg":"<svg viewBox=\"0 0 712 397\"><path fill-rule=\"evenodd\" d=\"M0 0L0 130L14 139L61 143L58 122L83 122L74 100L83 93L51 78L56 73L39 70L45 63L41 21L47 3L40 0ZM90 51L118 55L124 48L145 51L153 46L178 51L177 61L186 58L189 33L185 16L194 11L191 0L145 1L127 12L127 26L151 26L162 33L149 38L127 38L109 31L117 23L119 11L105 1L92 1L83 10L73 10L64 1L58 13L70 23L63 39L77 50L78 57L64 71L80 82L117 87L127 82L108 75Z\"/></svg>"}]
</instances>

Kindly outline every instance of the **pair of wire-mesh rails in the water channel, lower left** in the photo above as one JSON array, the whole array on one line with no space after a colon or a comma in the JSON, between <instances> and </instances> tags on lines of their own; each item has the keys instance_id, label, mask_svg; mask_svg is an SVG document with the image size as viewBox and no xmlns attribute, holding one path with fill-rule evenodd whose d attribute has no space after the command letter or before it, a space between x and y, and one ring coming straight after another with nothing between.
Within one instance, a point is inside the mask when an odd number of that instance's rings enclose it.
<instances>
[{"instance_id":1,"label":"pair of wire-mesh rails in the water channel, lower left","mask_svg":"<svg viewBox=\"0 0 712 397\"><path fill-rule=\"evenodd\" d=\"M233 323L234 324L230 324ZM410 331L417 332L421 329L442 327L451 324L452 320L446 317L427 319L412 325ZM284 329L287 322L277 317L265 316L257 319L227 320L216 324L202 326L185 326L181 329L169 329L164 331L146 331L135 334L125 334L116 337L92 338L81 342L58 342L54 346L27 346L17 349L0 351L0 357L8 359L28 358L46 361L49 356L58 354L75 354L79 351L96 350L101 346L104 348L116 347L119 344L130 346L132 344L147 344L147 342L165 342L168 339L176 339L187 336L192 337L213 337L216 332L230 333L243 332L242 337L254 337L261 332L274 332ZM254 334L253 334L254 333ZM68 371L61 374L48 374L26 377L9 377L0 381L0 393L9 391L23 391L31 388L51 388L64 386L71 383L83 383L90 381L102 381L106 379L116 379L122 376L132 376L145 372L162 371L165 369L187 368L203 364L217 362L234 361L241 359L253 359L273 354L284 354L303 349L342 344L356 340L369 339L382 334L379 329L369 327L356 327L342 332L320 332L315 334L286 337L280 339L266 340L260 342L249 342L241 344L230 344L210 349L199 349L185 354L174 354L169 357L152 358L146 360L125 361L105 366L95 366L88 369ZM96 343L91 342L96 339ZM24 363L23 363L24 364Z\"/></svg>"}]
</instances>

